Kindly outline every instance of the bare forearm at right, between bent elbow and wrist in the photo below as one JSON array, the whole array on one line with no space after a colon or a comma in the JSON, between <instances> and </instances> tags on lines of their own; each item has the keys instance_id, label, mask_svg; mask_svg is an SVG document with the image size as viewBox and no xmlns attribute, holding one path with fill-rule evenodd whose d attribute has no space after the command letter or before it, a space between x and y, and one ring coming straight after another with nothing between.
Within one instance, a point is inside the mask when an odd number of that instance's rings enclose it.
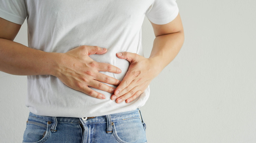
<instances>
[{"instance_id":1,"label":"bare forearm at right, between bent elbow and wrist","mask_svg":"<svg viewBox=\"0 0 256 143\"><path fill-rule=\"evenodd\" d=\"M161 72L178 55L183 42L183 31L155 38L149 59L156 71Z\"/></svg>"}]
</instances>

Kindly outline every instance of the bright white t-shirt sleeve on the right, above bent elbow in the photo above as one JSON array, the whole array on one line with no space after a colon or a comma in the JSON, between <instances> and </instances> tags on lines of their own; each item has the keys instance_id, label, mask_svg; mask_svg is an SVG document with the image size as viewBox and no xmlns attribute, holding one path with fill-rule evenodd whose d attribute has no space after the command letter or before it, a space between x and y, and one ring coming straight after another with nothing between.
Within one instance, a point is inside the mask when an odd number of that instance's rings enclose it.
<instances>
[{"instance_id":1,"label":"bright white t-shirt sleeve on the right, above bent elbow","mask_svg":"<svg viewBox=\"0 0 256 143\"><path fill-rule=\"evenodd\" d=\"M154 24L167 24L173 21L178 13L176 0L154 0L146 16Z\"/></svg>"}]
</instances>

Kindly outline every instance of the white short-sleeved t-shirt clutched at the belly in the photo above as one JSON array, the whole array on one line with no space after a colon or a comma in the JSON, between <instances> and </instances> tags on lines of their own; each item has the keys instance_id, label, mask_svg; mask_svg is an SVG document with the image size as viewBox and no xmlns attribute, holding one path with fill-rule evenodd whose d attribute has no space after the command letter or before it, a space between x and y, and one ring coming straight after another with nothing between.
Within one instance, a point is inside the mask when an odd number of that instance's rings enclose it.
<instances>
[{"instance_id":1,"label":"white short-sleeved t-shirt clutched at the belly","mask_svg":"<svg viewBox=\"0 0 256 143\"><path fill-rule=\"evenodd\" d=\"M27 18L30 48L57 53L80 45L107 48L107 53L90 57L120 68L120 74L102 73L122 80L129 62L117 58L116 53L127 51L143 56L144 16L155 24L167 24L178 15L175 1L0 0L0 17L16 24L23 24ZM41 116L94 117L135 110L149 97L148 87L135 101L117 104L110 99L111 93L94 90L103 93L106 99L76 91L52 75L28 76L26 106Z\"/></svg>"}]
</instances>

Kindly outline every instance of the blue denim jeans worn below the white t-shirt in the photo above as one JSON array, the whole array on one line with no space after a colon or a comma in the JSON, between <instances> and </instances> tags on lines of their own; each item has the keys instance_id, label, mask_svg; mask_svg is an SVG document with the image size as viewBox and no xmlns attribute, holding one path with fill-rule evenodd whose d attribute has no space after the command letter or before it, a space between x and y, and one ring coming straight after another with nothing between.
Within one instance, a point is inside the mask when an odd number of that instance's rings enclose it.
<instances>
[{"instance_id":1,"label":"blue denim jeans worn below the white t-shirt","mask_svg":"<svg viewBox=\"0 0 256 143\"><path fill-rule=\"evenodd\" d=\"M68 118L30 113L23 143L146 143L140 111Z\"/></svg>"}]
</instances>

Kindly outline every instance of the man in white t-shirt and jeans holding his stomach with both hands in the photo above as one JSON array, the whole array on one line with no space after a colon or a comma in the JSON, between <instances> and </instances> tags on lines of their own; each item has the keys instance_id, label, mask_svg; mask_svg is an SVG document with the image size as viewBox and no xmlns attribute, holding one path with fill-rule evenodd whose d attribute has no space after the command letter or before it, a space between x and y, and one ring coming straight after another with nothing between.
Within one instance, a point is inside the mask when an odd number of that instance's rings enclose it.
<instances>
[{"instance_id":1,"label":"man in white t-shirt and jeans holding his stomach with both hands","mask_svg":"<svg viewBox=\"0 0 256 143\"><path fill-rule=\"evenodd\" d=\"M146 142L137 108L184 39L175 0L2 0L0 17L0 71L28 75L24 142ZM29 47L12 41L26 18Z\"/></svg>"}]
</instances>

